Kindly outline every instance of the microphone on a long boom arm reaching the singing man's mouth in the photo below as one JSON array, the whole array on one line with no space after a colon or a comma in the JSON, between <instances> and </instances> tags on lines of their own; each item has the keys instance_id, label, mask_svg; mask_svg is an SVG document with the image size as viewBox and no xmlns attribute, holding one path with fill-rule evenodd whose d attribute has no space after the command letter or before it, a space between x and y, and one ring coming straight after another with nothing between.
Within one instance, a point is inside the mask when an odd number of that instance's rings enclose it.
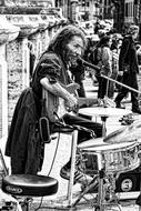
<instances>
[{"instance_id":1,"label":"microphone on a long boom arm reaching the singing man's mouth","mask_svg":"<svg viewBox=\"0 0 141 211\"><path fill-rule=\"evenodd\" d=\"M83 59L80 58L80 57L79 57L78 59L82 62L83 66L89 67L89 68L91 68L91 69L93 69L93 70L100 72L100 70L101 70L100 67L94 66L94 64L92 64L92 63L89 63L89 62L87 62L85 60L83 60ZM113 79L111 79L110 77L107 77L107 76L104 76L104 74L102 74L102 73L99 73L98 76L99 76L99 77L102 77L102 78L104 78L104 79L107 79L107 80L109 80L109 81L112 81L112 82L114 82L114 83L117 83L117 84L119 84L119 86L121 86L121 87L124 87L124 88L129 89L130 91L134 91L134 92L141 94L141 91L139 91L139 90L137 90L137 89L134 89L134 88L131 88L131 87L129 87L129 86L127 86L127 84L124 84L124 83L121 83L121 82L119 82L119 81L117 81L117 80L113 80Z\"/></svg>"}]
</instances>

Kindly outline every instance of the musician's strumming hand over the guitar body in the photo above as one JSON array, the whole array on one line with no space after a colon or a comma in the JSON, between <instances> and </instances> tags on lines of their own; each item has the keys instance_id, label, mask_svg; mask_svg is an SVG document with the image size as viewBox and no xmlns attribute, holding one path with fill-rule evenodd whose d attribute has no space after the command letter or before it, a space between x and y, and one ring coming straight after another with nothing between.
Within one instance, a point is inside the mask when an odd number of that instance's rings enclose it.
<instances>
[{"instance_id":1,"label":"musician's strumming hand over the guitar body","mask_svg":"<svg viewBox=\"0 0 141 211\"><path fill-rule=\"evenodd\" d=\"M78 100L72 94L66 100L66 107L68 111L74 111L78 108Z\"/></svg>"}]
</instances>

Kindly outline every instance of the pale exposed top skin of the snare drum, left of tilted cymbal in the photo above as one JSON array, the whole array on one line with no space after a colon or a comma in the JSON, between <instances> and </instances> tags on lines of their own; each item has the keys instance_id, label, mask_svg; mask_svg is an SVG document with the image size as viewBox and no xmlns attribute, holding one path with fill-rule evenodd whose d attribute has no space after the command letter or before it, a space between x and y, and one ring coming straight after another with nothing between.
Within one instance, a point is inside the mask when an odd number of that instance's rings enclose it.
<instances>
[{"instance_id":1,"label":"pale exposed top skin of the snare drum, left of tilted cymbal","mask_svg":"<svg viewBox=\"0 0 141 211\"><path fill-rule=\"evenodd\" d=\"M99 145L107 145L108 143L103 142L103 138L90 139L78 145L79 149L93 148Z\"/></svg>"}]
</instances>

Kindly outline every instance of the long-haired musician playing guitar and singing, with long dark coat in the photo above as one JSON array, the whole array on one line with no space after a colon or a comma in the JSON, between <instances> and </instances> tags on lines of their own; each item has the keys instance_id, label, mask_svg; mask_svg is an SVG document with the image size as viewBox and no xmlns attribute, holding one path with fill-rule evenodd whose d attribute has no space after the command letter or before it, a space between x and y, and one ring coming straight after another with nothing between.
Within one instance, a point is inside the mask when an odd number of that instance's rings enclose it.
<instances>
[{"instance_id":1,"label":"long-haired musician playing guitar and singing, with long dark coat","mask_svg":"<svg viewBox=\"0 0 141 211\"><path fill-rule=\"evenodd\" d=\"M32 135L32 139L28 138L31 135L31 132L34 132L30 131L32 127L29 125L29 123L33 121L36 114L39 119L41 117L42 88L47 92L52 93L52 96L62 98L69 110L73 111L78 108L78 99L75 96L67 91L64 87L72 84L69 66L71 66L71 62L77 62L78 54L82 56L85 44L87 42L83 31L74 26L67 26L59 31L59 33L57 33L57 36L51 40L46 52L42 53L34 69L31 81L30 93L33 96L34 103L31 102L31 98L26 100L26 97L29 98L29 92L27 93L27 91L24 91L20 97L20 101L16 107L16 112L13 114L13 124L11 125L6 148L6 155L11 157L12 173L36 174L41 170L44 148L43 145L40 145L40 140L37 142L34 141L37 134L34 134L34 137ZM78 87L77 84L74 86ZM24 100L22 101L22 99ZM51 99L48 99L48 101L50 100ZM33 117L32 112L30 112L32 110L29 109L31 108L31 104L36 104L34 111L37 111L37 113L33 113ZM50 109L49 114L54 107L56 104L52 104L51 108L48 108ZM21 110L24 112L20 113ZM18 118L20 114L22 117ZM56 115L57 121L60 121L60 119L57 118L58 113L53 113L53 115ZM49 128L51 130L50 133L52 133L56 121L51 121L50 117L46 118L49 122ZM39 121L39 119L37 120ZM77 124L90 129L89 131L79 131L78 144L91 138L90 131L93 131L95 137L102 137L101 123L81 118L74 112L71 114L66 111L66 113L61 117L61 121L70 125ZM17 124L14 124L14 122L17 122ZM37 122L34 122L33 125L36 125L36 123ZM31 141L34 142L32 143ZM32 151L30 151L31 148L29 149L27 145L33 145ZM70 167L71 159L61 169L60 175L62 178L70 179ZM91 179L90 177L87 178ZM77 171L74 182L83 182L83 180L85 180L85 177L81 172Z\"/></svg>"}]
</instances>

